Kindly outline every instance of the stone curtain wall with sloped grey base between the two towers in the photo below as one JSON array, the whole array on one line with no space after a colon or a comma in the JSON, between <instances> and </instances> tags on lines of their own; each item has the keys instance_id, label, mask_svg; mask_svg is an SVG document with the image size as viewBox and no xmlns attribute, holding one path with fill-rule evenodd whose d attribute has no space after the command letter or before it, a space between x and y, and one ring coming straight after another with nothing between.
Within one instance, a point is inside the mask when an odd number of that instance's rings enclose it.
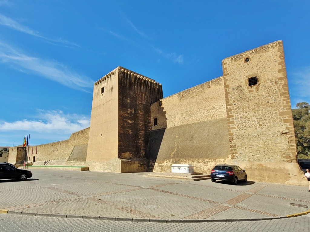
<instances>
[{"instance_id":1,"label":"stone curtain wall with sloped grey base between the two towers","mask_svg":"<svg viewBox=\"0 0 310 232\"><path fill-rule=\"evenodd\" d=\"M208 173L229 156L223 77L186 89L151 105L150 170L192 164ZM157 125L154 125L156 118Z\"/></svg>"}]
</instances>

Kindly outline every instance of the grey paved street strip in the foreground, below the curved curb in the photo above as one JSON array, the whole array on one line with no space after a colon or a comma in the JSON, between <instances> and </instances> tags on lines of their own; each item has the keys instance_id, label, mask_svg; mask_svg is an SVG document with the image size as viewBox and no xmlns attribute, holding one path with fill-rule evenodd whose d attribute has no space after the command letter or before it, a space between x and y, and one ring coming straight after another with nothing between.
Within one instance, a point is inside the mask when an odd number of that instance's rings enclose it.
<instances>
[{"instance_id":1,"label":"grey paved street strip in the foreground, below the curved curb","mask_svg":"<svg viewBox=\"0 0 310 232\"><path fill-rule=\"evenodd\" d=\"M308 232L310 217L300 216L287 219L264 221L234 221L209 223L157 223L104 221L82 218L33 217L0 214L1 232L76 232L76 231L212 231L212 232Z\"/></svg>"}]
</instances>

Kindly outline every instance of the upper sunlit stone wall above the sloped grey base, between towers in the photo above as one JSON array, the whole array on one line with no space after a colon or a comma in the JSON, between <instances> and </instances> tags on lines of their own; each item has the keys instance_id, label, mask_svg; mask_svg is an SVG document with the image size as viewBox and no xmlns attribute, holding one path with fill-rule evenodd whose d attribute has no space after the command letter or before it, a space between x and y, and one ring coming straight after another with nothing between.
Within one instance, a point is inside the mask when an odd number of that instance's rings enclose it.
<instances>
[{"instance_id":1,"label":"upper sunlit stone wall above the sloped grey base, between towers","mask_svg":"<svg viewBox=\"0 0 310 232\"><path fill-rule=\"evenodd\" d=\"M151 105L151 118L152 130L226 118L223 78L218 77L155 102Z\"/></svg>"}]
</instances>

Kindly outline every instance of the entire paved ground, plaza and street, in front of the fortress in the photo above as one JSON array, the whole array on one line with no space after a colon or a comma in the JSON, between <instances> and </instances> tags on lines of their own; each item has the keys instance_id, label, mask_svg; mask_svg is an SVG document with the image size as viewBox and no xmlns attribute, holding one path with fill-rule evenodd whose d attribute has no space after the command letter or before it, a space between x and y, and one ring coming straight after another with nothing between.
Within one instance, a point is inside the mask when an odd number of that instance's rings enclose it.
<instances>
[{"instance_id":1,"label":"entire paved ground, plaza and street, in front of the fortress","mask_svg":"<svg viewBox=\"0 0 310 232\"><path fill-rule=\"evenodd\" d=\"M171 227L202 231L202 227L217 225L246 231L249 225L268 228L286 224L296 224L294 231L309 230L307 181L304 186L294 186L253 182L249 178L248 183L232 185L224 181L155 178L148 177L148 173L31 171L33 177L27 181L0 180L1 231L10 231L12 221L15 226L20 221L29 228L38 225L36 220L57 222L53 225L56 227L72 223L72 231L77 231L73 230L74 225L88 223L127 225L134 231L139 226L153 225L161 231ZM31 223L34 224L30 226ZM113 231L111 228L106 231ZM282 231L290 231L289 228L285 226ZM54 229L46 231L57 231Z\"/></svg>"}]
</instances>

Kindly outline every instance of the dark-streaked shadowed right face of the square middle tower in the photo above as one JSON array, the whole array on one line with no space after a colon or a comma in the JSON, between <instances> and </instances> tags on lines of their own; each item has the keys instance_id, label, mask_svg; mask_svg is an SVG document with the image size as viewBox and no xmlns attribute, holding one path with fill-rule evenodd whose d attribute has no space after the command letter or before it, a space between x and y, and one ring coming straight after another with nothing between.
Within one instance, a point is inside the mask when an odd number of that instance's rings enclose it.
<instances>
[{"instance_id":1,"label":"dark-streaked shadowed right face of the square middle tower","mask_svg":"<svg viewBox=\"0 0 310 232\"><path fill-rule=\"evenodd\" d=\"M162 85L126 69L118 78L118 158L145 158L152 128L150 105L163 98Z\"/></svg>"}]
</instances>

